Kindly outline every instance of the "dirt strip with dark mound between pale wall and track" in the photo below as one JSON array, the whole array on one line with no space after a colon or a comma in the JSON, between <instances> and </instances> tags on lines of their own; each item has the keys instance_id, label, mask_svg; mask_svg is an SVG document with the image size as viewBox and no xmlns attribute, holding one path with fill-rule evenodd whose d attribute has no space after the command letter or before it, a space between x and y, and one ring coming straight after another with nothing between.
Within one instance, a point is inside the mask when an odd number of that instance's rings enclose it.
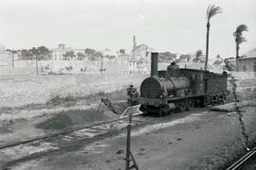
<instances>
[{"instance_id":1,"label":"dirt strip with dark mound between pale wall and track","mask_svg":"<svg viewBox=\"0 0 256 170\"><path fill-rule=\"evenodd\" d=\"M101 97L115 98L113 105L123 111L127 108L125 94L126 90L121 90L116 93L96 93L84 98L53 98L46 104L0 108L0 144L116 118L118 115L101 104Z\"/></svg>"}]
</instances>

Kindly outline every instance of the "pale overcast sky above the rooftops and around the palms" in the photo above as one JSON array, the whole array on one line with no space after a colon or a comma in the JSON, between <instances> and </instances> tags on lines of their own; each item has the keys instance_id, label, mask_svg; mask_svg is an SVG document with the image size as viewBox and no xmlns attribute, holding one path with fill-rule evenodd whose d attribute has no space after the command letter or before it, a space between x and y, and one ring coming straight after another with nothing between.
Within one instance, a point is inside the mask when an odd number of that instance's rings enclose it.
<instances>
[{"instance_id":1,"label":"pale overcast sky above the rooftops and around the palms","mask_svg":"<svg viewBox=\"0 0 256 170\"><path fill-rule=\"evenodd\" d=\"M256 47L256 0L0 0L0 43L7 48L67 46L118 50L145 43L157 51L205 52L206 10L223 13L210 22L210 58L235 55L232 36L245 24L247 42Z\"/></svg>"}]
</instances>

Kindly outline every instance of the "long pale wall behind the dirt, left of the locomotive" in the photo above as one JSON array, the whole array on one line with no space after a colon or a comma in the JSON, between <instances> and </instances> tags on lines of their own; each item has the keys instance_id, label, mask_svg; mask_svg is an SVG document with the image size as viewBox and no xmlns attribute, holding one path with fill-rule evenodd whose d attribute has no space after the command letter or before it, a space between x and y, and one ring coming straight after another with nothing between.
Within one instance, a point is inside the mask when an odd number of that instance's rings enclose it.
<instances>
[{"instance_id":1,"label":"long pale wall behind the dirt, left of the locomotive","mask_svg":"<svg viewBox=\"0 0 256 170\"><path fill-rule=\"evenodd\" d=\"M130 84L138 87L145 77L146 75L0 76L0 107L45 103L56 95L111 93Z\"/></svg>"}]
</instances>

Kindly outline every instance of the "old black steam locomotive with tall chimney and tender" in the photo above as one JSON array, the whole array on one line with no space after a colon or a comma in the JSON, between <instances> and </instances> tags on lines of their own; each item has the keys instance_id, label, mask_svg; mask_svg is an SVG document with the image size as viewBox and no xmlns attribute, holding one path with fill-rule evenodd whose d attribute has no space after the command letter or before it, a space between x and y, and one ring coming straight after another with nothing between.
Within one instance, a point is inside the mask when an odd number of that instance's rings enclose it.
<instances>
[{"instance_id":1,"label":"old black steam locomotive with tall chimney and tender","mask_svg":"<svg viewBox=\"0 0 256 170\"><path fill-rule=\"evenodd\" d=\"M158 53L152 53L151 76L140 85L140 95L133 86L127 89L130 105L141 104L144 112L164 116L172 111L181 112L190 107L223 104L228 75L205 70L178 68L174 64L165 71L157 70Z\"/></svg>"}]
</instances>

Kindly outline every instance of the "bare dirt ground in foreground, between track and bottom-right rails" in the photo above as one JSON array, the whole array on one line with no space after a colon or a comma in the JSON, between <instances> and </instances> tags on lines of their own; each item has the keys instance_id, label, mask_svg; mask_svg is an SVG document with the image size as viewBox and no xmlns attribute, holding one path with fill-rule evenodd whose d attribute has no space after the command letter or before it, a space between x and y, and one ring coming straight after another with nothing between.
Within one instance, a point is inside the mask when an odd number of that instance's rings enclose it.
<instances>
[{"instance_id":1,"label":"bare dirt ground in foreground, between track and bottom-right rails","mask_svg":"<svg viewBox=\"0 0 256 170\"><path fill-rule=\"evenodd\" d=\"M256 110L244 113L250 137L256 138ZM160 119L132 132L132 151L139 169L223 169L246 152L238 117L232 112L192 110ZM250 143L252 144L252 142ZM124 169L125 134L81 144L11 169Z\"/></svg>"}]
</instances>

